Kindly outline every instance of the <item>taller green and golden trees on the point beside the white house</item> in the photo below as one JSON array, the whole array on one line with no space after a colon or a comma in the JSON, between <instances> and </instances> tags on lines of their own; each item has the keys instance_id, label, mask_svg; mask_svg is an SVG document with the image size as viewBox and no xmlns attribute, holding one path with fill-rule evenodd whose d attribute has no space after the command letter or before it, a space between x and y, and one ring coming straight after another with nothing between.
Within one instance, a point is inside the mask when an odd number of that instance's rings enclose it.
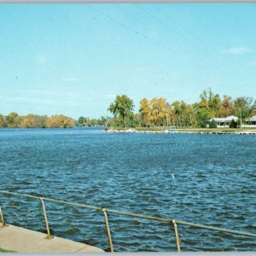
<instances>
[{"instance_id":1,"label":"taller green and golden trees on the point beside the white house","mask_svg":"<svg viewBox=\"0 0 256 256\"><path fill-rule=\"evenodd\" d=\"M232 99L231 96L222 98L212 92L203 90L200 101L188 104L183 101L169 103L165 98L154 97L151 100L143 98L140 101L138 113L134 113L134 102L128 96L116 96L108 108L113 113L110 126L121 127L201 127L210 124L209 119L235 115L243 123L245 119L256 114L256 100L250 96ZM240 121L239 121L240 122Z\"/></svg>"}]
</instances>

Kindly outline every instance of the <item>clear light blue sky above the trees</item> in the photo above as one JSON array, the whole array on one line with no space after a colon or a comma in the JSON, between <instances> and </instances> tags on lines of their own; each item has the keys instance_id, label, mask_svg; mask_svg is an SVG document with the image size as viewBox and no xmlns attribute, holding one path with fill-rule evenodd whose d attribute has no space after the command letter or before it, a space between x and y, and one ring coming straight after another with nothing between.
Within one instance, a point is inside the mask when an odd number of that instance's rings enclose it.
<instances>
[{"instance_id":1,"label":"clear light blue sky above the trees","mask_svg":"<svg viewBox=\"0 0 256 256\"><path fill-rule=\"evenodd\" d=\"M256 96L256 4L0 6L0 113L110 115L116 95Z\"/></svg>"}]
</instances>

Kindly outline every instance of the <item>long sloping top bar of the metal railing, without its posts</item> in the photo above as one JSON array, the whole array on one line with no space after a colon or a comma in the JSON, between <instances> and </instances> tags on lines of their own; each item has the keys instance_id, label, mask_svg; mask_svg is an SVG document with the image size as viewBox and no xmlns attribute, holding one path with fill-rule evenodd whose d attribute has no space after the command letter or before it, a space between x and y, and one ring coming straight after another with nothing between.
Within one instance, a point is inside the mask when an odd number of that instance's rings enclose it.
<instances>
[{"instance_id":1,"label":"long sloping top bar of the metal railing, without its posts","mask_svg":"<svg viewBox=\"0 0 256 256\"><path fill-rule=\"evenodd\" d=\"M84 205L84 204L72 203L72 202L61 201L61 200L55 200L55 199L50 199L50 198L47 198L47 197L36 196L36 195L18 194L18 193L15 193L15 192L9 192L9 191L3 191L3 190L0 190L0 194L17 195L17 196L33 198L33 199L38 199L38 200L43 199L44 201L53 201L53 202L56 202L56 203L61 203L61 204L65 204L65 205L69 205L69 206L73 206L73 207L82 207L82 208L94 209L96 211L102 211L102 207L91 207L91 206L87 206L87 205ZM160 218L160 217L153 217L153 216L141 215L141 214L130 213L130 212L119 212L119 211L116 211L116 210L111 210L111 209L106 209L106 208L105 208L105 211L106 212L111 212L113 214L131 216L131 217L136 217L136 218L147 218L147 219L172 223L172 218ZM241 235L241 236L256 237L256 234L247 233L247 232L243 232L243 231L222 229L222 228L207 226L207 225L203 225L203 224L194 224L194 223L190 223L190 222L186 222L186 221L179 221L179 220L175 220L175 221L176 221L177 224L183 224L183 225L196 227L196 228L200 228L200 229L217 230L217 231L223 231L223 232L232 233L232 234Z\"/></svg>"}]
</instances>

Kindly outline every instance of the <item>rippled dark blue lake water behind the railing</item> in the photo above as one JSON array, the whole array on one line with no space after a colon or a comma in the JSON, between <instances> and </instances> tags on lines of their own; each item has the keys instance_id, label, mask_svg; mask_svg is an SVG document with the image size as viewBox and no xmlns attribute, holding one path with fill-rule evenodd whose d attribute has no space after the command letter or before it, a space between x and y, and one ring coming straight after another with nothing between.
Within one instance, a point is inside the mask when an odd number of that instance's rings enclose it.
<instances>
[{"instance_id":1,"label":"rippled dark blue lake water behind the railing","mask_svg":"<svg viewBox=\"0 0 256 256\"><path fill-rule=\"evenodd\" d=\"M256 233L255 136L0 129L1 189ZM173 178L173 176L175 178ZM0 195L9 224L45 230L40 201ZM55 236L108 250L102 212L46 202ZM119 252L176 251L171 224L108 214ZM178 225L183 251L255 238Z\"/></svg>"}]
</instances>

